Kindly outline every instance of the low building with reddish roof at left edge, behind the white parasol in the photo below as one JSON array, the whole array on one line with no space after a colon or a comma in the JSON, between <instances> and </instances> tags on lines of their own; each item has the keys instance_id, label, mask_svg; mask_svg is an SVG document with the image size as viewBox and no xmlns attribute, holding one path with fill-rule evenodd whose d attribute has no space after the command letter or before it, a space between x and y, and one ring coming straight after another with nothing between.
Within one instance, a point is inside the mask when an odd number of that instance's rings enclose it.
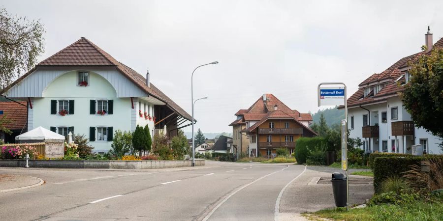
<instances>
[{"instance_id":1,"label":"low building with reddish roof at left edge, behind the white parasol","mask_svg":"<svg viewBox=\"0 0 443 221\"><path fill-rule=\"evenodd\" d=\"M28 131L26 119L28 108L26 102L0 102L0 119L4 116L9 122L3 125L12 133L6 134L0 131L0 140L5 143L15 143L15 137Z\"/></svg>"}]
</instances>

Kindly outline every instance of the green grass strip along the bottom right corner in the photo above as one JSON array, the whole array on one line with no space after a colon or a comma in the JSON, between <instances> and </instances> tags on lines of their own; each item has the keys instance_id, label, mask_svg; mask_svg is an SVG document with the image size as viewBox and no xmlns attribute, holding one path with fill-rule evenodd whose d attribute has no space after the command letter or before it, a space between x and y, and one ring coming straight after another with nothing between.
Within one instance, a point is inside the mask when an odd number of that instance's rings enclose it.
<instances>
[{"instance_id":1,"label":"green grass strip along the bottom right corner","mask_svg":"<svg viewBox=\"0 0 443 221\"><path fill-rule=\"evenodd\" d=\"M436 221L443 220L443 203L416 201L406 205L384 204L366 208L326 209L303 214L309 220L323 219L340 221Z\"/></svg>"}]
</instances>

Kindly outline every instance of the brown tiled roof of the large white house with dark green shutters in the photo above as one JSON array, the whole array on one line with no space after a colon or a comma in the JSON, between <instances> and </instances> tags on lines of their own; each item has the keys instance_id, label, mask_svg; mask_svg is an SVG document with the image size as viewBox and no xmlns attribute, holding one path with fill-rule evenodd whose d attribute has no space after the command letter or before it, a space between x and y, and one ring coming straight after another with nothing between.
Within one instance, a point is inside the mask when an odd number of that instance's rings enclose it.
<instances>
[{"instance_id":1,"label":"brown tiled roof of the large white house with dark green shutters","mask_svg":"<svg viewBox=\"0 0 443 221\"><path fill-rule=\"evenodd\" d=\"M124 76L126 76L130 81L135 83L138 87L144 90L149 95L157 98L160 101L166 103L166 105L175 111L177 114L183 116L184 118L191 120L192 117L189 113L184 111L180 106L178 106L174 101L172 101L168 96L161 92L156 86L150 83L150 87L146 85L146 79L138 74L133 69L129 68L125 64L117 61L114 57L100 49L94 43L86 38L81 38L68 47L64 48L60 52L46 58L42 62L38 63L36 67L39 66L102 66L109 65L115 66ZM35 68L31 71L17 79L14 83L11 83L6 88L4 88L0 94L7 91L13 85L21 82L24 78L30 75Z\"/></svg>"}]
</instances>

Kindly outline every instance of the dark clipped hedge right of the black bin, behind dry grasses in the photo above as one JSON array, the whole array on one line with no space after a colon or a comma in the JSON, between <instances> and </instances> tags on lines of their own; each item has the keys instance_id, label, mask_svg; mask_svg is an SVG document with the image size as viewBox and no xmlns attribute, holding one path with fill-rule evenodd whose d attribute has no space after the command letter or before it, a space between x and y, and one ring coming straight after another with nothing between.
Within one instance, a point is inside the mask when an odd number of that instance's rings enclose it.
<instances>
[{"instance_id":1,"label":"dark clipped hedge right of the black bin, behind dry grasses","mask_svg":"<svg viewBox=\"0 0 443 221\"><path fill-rule=\"evenodd\" d=\"M371 154L372 155L372 154ZM402 176L404 172L410 170L411 165L420 165L421 161L430 158L443 158L442 155L427 155L424 157L411 156L408 157L377 157L374 160L374 190L380 192L381 183L391 176Z\"/></svg>"}]
</instances>

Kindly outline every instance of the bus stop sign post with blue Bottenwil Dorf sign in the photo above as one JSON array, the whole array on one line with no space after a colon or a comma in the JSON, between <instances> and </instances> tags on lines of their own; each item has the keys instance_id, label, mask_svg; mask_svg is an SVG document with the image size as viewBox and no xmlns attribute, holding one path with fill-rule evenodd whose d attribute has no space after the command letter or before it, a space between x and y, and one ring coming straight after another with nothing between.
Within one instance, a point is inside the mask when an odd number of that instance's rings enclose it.
<instances>
[{"instance_id":1,"label":"bus stop sign post with blue Bottenwil Dorf sign","mask_svg":"<svg viewBox=\"0 0 443 221\"><path fill-rule=\"evenodd\" d=\"M323 86L322 85L343 85ZM349 172L348 172L348 104L346 84L344 83L319 83L317 87L318 107L322 105L344 105L345 119L341 121L341 147L342 147L342 169L346 171L346 210L349 211Z\"/></svg>"}]
</instances>

